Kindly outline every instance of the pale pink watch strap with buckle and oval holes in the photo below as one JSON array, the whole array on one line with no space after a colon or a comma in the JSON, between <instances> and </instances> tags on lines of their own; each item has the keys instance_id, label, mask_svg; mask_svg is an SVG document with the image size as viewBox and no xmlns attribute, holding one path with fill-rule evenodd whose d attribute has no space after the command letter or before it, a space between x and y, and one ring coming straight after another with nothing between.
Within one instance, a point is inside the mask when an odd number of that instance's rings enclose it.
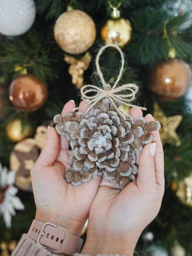
<instances>
[{"instance_id":1,"label":"pale pink watch strap with buckle and oval holes","mask_svg":"<svg viewBox=\"0 0 192 256\"><path fill-rule=\"evenodd\" d=\"M71 235L65 228L50 222L33 220L28 236L55 254L73 255L79 252L83 239Z\"/></svg>"}]
</instances>

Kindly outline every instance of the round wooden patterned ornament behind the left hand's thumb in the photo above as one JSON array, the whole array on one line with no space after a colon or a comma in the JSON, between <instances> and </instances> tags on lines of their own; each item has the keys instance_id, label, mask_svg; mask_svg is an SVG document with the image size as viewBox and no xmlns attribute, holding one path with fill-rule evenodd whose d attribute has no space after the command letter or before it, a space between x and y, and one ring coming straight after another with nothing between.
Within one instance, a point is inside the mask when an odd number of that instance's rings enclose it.
<instances>
[{"instance_id":1,"label":"round wooden patterned ornament behind the left hand's thumb","mask_svg":"<svg viewBox=\"0 0 192 256\"><path fill-rule=\"evenodd\" d=\"M16 172L15 184L24 191L32 191L30 170L35 164L47 138L47 127L38 126L34 138L17 143L10 155L10 167Z\"/></svg>"}]
</instances>

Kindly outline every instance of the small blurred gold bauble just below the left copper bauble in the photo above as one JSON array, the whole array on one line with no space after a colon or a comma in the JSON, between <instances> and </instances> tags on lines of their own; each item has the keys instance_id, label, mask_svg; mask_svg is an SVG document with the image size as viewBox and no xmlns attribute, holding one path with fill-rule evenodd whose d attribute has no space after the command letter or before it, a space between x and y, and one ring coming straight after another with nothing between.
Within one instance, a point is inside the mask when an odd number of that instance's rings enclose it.
<instances>
[{"instance_id":1,"label":"small blurred gold bauble just below the left copper bauble","mask_svg":"<svg viewBox=\"0 0 192 256\"><path fill-rule=\"evenodd\" d=\"M30 123L22 124L20 119L15 119L8 123L6 127L7 137L13 142L18 142L33 133L33 127Z\"/></svg>"}]
</instances>

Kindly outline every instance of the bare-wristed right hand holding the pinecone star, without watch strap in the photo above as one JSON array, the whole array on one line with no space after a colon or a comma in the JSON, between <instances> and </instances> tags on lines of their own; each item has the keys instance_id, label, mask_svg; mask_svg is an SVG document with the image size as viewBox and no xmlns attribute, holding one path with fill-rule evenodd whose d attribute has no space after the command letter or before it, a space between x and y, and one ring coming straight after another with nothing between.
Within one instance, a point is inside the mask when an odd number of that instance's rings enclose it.
<instances>
[{"instance_id":1,"label":"bare-wristed right hand holding the pinecone star, without watch strap","mask_svg":"<svg viewBox=\"0 0 192 256\"><path fill-rule=\"evenodd\" d=\"M138 108L132 108L130 114L134 118L142 116ZM150 122L154 118L147 115L146 120ZM164 195L164 154L159 132L152 134L155 143L147 144L141 151L137 181L123 190L101 181L89 212L82 253L133 255L142 230L159 212Z\"/></svg>"}]
</instances>

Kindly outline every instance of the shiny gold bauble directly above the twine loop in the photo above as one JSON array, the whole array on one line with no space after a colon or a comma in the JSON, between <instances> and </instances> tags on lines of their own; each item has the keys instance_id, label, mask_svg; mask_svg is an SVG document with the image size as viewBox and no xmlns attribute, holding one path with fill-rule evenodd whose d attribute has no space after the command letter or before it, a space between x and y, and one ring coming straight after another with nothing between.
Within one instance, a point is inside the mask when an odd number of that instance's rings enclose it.
<instances>
[{"instance_id":1,"label":"shiny gold bauble directly above the twine loop","mask_svg":"<svg viewBox=\"0 0 192 256\"><path fill-rule=\"evenodd\" d=\"M123 47L131 40L131 23L123 18L110 19L101 29L101 38L104 44L118 44Z\"/></svg>"}]
</instances>

